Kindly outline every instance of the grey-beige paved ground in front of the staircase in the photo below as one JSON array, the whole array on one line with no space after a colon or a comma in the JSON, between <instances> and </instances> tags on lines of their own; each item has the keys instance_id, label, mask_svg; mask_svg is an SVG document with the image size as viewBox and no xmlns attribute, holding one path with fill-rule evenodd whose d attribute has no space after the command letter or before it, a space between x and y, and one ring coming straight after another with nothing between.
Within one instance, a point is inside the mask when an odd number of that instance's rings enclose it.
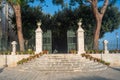
<instances>
[{"instance_id":1,"label":"grey-beige paved ground in front of the staircase","mask_svg":"<svg viewBox=\"0 0 120 80\"><path fill-rule=\"evenodd\" d=\"M120 67L99 72L40 72L1 68L0 80L120 80Z\"/></svg>"}]
</instances>

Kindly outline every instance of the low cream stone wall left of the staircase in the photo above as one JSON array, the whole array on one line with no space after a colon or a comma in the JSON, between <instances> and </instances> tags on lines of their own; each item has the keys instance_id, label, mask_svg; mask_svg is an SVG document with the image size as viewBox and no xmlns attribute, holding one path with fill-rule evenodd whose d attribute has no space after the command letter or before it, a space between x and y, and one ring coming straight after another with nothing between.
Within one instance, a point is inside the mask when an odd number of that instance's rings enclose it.
<instances>
[{"instance_id":1,"label":"low cream stone wall left of the staircase","mask_svg":"<svg viewBox=\"0 0 120 80\"><path fill-rule=\"evenodd\" d=\"M0 67L8 65L8 67L17 66L17 62L23 58L27 58L30 55L0 55Z\"/></svg>"}]
</instances>

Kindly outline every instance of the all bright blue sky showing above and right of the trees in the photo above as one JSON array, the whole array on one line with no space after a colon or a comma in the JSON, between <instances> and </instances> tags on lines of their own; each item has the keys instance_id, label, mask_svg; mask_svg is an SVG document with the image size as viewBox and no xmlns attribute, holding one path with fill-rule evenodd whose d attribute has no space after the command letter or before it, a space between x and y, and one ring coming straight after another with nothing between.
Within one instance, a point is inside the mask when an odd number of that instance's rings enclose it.
<instances>
[{"instance_id":1,"label":"all bright blue sky showing above and right of the trees","mask_svg":"<svg viewBox=\"0 0 120 80\"><path fill-rule=\"evenodd\" d=\"M69 0L66 0L66 2ZM55 12L57 12L58 10L61 9L60 6L55 6L52 4L52 0L46 0L46 4L47 6L45 6L45 4L43 5L43 12L46 14L51 14L53 15ZM33 4L31 4L33 6L37 6L37 5L41 5L41 3L39 2L35 2ZM117 3L115 4L115 6L117 6L120 10L120 0L117 0ZM104 40L108 40L108 49L116 49L116 45L117 45L117 39L116 39L116 32L118 33L118 48L120 49L120 26L119 29L114 30L113 32L107 32L104 34L104 37L101 38L99 40L99 48L103 49L103 41Z\"/></svg>"}]
</instances>

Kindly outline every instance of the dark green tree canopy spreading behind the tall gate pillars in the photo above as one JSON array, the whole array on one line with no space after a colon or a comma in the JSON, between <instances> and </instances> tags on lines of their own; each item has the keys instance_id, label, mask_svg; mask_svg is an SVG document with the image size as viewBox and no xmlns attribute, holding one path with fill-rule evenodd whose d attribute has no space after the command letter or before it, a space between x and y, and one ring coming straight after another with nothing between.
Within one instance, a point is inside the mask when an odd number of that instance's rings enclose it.
<instances>
[{"instance_id":1,"label":"dark green tree canopy spreading behind the tall gate pillars","mask_svg":"<svg viewBox=\"0 0 120 80\"><path fill-rule=\"evenodd\" d=\"M83 2L83 0L80 1ZM85 2L83 3L85 4ZM99 9L100 8L101 7L99 7ZM85 30L85 44L90 49L91 46L93 46L93 31L95 29L95 18L94 15L90 13L92 13L92 8L89 5L82 5L75 9L65 7L61 11L56 12L53 16L43 13L41 7L24 5L22 6L24 38L30 39L34 35L34 31L37 27L36 23L39 19L42 21L42 29L44 31L52 29L56 35L60 35L61 32L67 30L73 29L76 31L78 28L77 22L82 18L82 27ZM117 29L119 24L120 12L118 8L114 6L108 7L103 18L100 37L102 37L105 32L112 32L114 29Z\"/></svg>"}]
</instances>

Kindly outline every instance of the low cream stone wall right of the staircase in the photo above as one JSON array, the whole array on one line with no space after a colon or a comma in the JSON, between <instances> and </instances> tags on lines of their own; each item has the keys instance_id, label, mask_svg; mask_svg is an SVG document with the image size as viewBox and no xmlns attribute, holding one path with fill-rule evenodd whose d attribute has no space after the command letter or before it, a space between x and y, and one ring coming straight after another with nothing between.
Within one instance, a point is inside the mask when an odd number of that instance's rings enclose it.
<instances>
[{"instance_id":1,"label":"low cream stone wall right of the staircase","mask_svg":"<svg viewBox=\"0 0 120 80\"><path fill-rule=\"evenodd\" d=\"M100 58L106 62L110 62L110 66L120 66L120 54L90 54L93 57Z\"/></svg>"}]
</instances>

